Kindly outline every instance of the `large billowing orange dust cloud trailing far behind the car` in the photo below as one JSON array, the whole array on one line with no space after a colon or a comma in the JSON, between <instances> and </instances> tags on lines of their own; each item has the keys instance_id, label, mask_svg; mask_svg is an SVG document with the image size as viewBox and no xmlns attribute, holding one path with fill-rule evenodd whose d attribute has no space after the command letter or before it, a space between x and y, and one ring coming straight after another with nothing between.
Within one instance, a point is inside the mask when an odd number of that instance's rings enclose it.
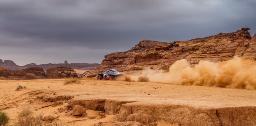
<instances>
[{"instance_id":1,"label":"large billowing orange dust cloud trailing far behind the car","mask_svg":"<svg viewBox=\"0 0 256 126\"><path fill-rule=\"evenodd\" d=\"M244 71L239 57L227 61L220 68L217 63L203 60L191 67L187 60L182 59L170 66L167 73L163 70L146 69L142 75L147 75L151 82L256 89L256 66Z\"/></svg>"}]
</instances>

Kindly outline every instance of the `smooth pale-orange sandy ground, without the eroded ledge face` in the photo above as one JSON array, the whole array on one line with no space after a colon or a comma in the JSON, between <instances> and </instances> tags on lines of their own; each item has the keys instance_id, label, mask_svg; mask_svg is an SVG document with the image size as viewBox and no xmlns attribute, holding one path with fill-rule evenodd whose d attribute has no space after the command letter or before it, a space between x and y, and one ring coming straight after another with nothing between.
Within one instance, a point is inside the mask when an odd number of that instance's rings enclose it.
<instances>
[{"instance_id":1,"label":"smooth pale-orange sandy ground, without the eroded ledge face","mask_svg":"<svg viewBox=\"0 0 256 126\"><path fill-rule=\"evenodd\" d=\"M246 69L255 66L254 60L244 59L244 61L246 62ZM65 108L68 103L63 103L57 107L44 107L49 103L37 102L35 100L37 96L34 93L71 95L76 99L113 99L136 101L137 104L181 104L203 108L256 106L256 91L248 89L110 81L95 78L80 79L80 81L81 84L64 85L64 79L0 80L0 110L7 112L12 122L16 120L20 111L29 108L35 114L41 113L45 116L58 117L64 126L93 126L98 125L99 122L106 124L104 126L111 126L118 122L117 115L107 115L105 118L100 118L102 111L86 110L86 117L66 116L65 112L58 112L58 108ZM15 91L18 85L27 88ZM178 124L158 121L157 126L172 125L177 126Z\"/></svg>"}]
</instances>

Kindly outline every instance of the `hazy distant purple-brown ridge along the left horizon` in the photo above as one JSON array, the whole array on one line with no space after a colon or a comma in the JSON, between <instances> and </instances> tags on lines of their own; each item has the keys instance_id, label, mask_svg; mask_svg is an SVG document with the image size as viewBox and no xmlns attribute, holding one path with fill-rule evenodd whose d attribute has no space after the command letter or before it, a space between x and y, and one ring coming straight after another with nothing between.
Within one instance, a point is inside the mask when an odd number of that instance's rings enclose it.
<instances>
[{"instance_id":1,"label":"hazy distant purple-brown ridge along the left horizon","mask_svg":"<svg viewBox=\"0 0 256 126\"><path fill-rule=\"evenodd\" d=\"M16 65L14 61L11 60L1 60L0 59L0 68L6 68L6 69L11 69L11 70L21 70L21 69L25 69L28 67L42 67L45 71L49 68L52 67L59 67L59 66L67 66L73 69L83 69L83 70L93 70L94 68L96 68L97 66L99 66L100 64L87 64L87 63L71 63L69 64L67 61L65 61L62 64L27 64L24 66L19 66Z\"/></svg>"}]
</instances>

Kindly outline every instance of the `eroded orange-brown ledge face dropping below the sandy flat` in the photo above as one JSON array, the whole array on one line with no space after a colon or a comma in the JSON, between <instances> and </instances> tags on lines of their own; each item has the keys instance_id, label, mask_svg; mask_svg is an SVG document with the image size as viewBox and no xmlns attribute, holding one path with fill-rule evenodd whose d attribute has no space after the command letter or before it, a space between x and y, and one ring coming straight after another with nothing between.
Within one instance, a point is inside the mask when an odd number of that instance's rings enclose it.
<instances>
[{"instance_id":1,"label":"eroded orange-brown ledge face dropping below the sandy flat","mask_svg":"<svg viewBox=\"0 0 256 126\"><path fill-rule=\"evenodd\" d=\"M161 119L180 126L251 126L256 125L256 106L207 108L185 105L142 104L135 101L108 99L72 99L71 107L118 114L119 121L148 125Z\"/></svg>"}]
</instances>

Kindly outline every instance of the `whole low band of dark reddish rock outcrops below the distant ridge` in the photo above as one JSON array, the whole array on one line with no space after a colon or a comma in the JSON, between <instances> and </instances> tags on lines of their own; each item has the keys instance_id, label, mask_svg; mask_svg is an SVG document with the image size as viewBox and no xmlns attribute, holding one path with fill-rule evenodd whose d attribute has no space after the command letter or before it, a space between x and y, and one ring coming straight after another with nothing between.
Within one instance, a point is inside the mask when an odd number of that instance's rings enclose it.
<instances>
[{"instance_id":1,"label":"whole low band of dark reddish rock outcrops below the distant ridge","mask_svg":"<svg viewBox=\"0 0 256 126\"><path fill-rule=\"evenodd\" d=\"M46 73L43 68L38 66L29 67L22 70L0 68L0 76L12 80L78 77L74 69L66 66L50 68L46 71Z\"/></svg>"}]
</instances>

